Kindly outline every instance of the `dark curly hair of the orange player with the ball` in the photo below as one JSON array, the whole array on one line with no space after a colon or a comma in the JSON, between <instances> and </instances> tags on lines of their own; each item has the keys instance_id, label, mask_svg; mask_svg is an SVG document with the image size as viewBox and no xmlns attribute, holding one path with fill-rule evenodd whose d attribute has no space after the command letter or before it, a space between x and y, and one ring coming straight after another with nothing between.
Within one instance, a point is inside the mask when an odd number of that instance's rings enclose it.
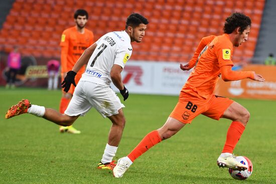
<instances>
[{"instance_id":1,"label":"dark curly hair of the orange player with the ball","mask_svg":"<svg viewBox=\"0 0 276 184\"><path fill-rule=\"evenodd\" d=\"M242 33L248 26L251 26L250 18L242 13L236 12L225 19L223 32L226 34L231 34L237 27L240 27L239 32Z\"/></svg>"}]
</instances>

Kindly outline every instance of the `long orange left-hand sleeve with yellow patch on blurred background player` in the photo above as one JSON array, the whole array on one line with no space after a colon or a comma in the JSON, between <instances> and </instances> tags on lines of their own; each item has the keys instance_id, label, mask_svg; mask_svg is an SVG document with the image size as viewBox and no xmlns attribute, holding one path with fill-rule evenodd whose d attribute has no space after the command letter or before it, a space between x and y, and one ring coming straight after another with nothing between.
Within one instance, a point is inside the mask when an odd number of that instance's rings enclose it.
<instances>
[{"instance_id":1,"label":"long orange left-hand sleeve with yellow patch on blurred background player","mask_svg":"<svg viewBox=\"0 0 276 184\"><path fill-rule=\"evenodd\" d=\"M68 72L67 69L67 56L68 56L68 49L69 49L69 34L67 31L64 31L61 35L60 40L60 47L61 47L61 56L60 56L60 63L61 63L61 72Z\"/></svg>"}]
</instances>

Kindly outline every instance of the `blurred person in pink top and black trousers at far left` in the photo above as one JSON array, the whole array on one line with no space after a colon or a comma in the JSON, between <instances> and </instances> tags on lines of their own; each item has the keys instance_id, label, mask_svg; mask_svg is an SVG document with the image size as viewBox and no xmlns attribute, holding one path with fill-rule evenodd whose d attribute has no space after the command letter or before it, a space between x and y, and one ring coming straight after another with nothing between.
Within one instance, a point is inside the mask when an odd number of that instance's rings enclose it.
<instances>
[{"instance_id":1,"label":"blurred person in pink top and black trousers at far left","mask_svg":"<svg viewBox=\"0 0 276 184\"><path fill-rule=\"evenodd\" d=\"M15 88L16 75L21 67L21 54L18 51L18 47L14 47L14 50L8 56L8 74L6 88Z\"/></svg>"}]
</instances>

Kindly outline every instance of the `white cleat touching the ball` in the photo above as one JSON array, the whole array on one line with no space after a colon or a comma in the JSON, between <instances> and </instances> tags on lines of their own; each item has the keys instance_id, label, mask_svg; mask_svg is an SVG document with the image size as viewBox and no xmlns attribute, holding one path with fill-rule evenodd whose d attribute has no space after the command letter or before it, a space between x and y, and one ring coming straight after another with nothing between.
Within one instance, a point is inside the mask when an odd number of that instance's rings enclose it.
<instances>
[{"instance_id":1,"label":"white cleat touching the ball","mask_svg":"<svg viewBox=\"0 0 276 184\"><path fill-rule=\"evenodd\" d=\"M236 157L234 155L230 155L227 157L219 156L217 159L217 165L219 167L228 167L228 168L232 168L234 170L247 169L247 167L245 167L242 163L240 163L236 160Z\"/></svg>"}]
</instances>

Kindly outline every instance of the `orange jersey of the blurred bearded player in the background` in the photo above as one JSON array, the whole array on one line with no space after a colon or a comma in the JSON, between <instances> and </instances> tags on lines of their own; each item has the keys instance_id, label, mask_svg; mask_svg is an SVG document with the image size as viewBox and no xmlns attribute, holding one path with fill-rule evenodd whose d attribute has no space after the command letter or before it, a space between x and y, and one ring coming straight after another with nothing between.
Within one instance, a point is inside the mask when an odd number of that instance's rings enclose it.
<instances>
[{"instance_id":1,"label":"orange jersey of the blurred bearded player in the background","mask_svg":"<svg viewBox=\"0 0 276 184\"><path fill-rule=\"evenodd\" d=\"M73 66L80 58L86 48L94 43L93 32L84 29L81 34L77 31L76 26L66 29L61 36L61 72L67 73L72 70ZM79 70L78 74L84 72L84 66Z\"/></svg>"}]
</instances>

